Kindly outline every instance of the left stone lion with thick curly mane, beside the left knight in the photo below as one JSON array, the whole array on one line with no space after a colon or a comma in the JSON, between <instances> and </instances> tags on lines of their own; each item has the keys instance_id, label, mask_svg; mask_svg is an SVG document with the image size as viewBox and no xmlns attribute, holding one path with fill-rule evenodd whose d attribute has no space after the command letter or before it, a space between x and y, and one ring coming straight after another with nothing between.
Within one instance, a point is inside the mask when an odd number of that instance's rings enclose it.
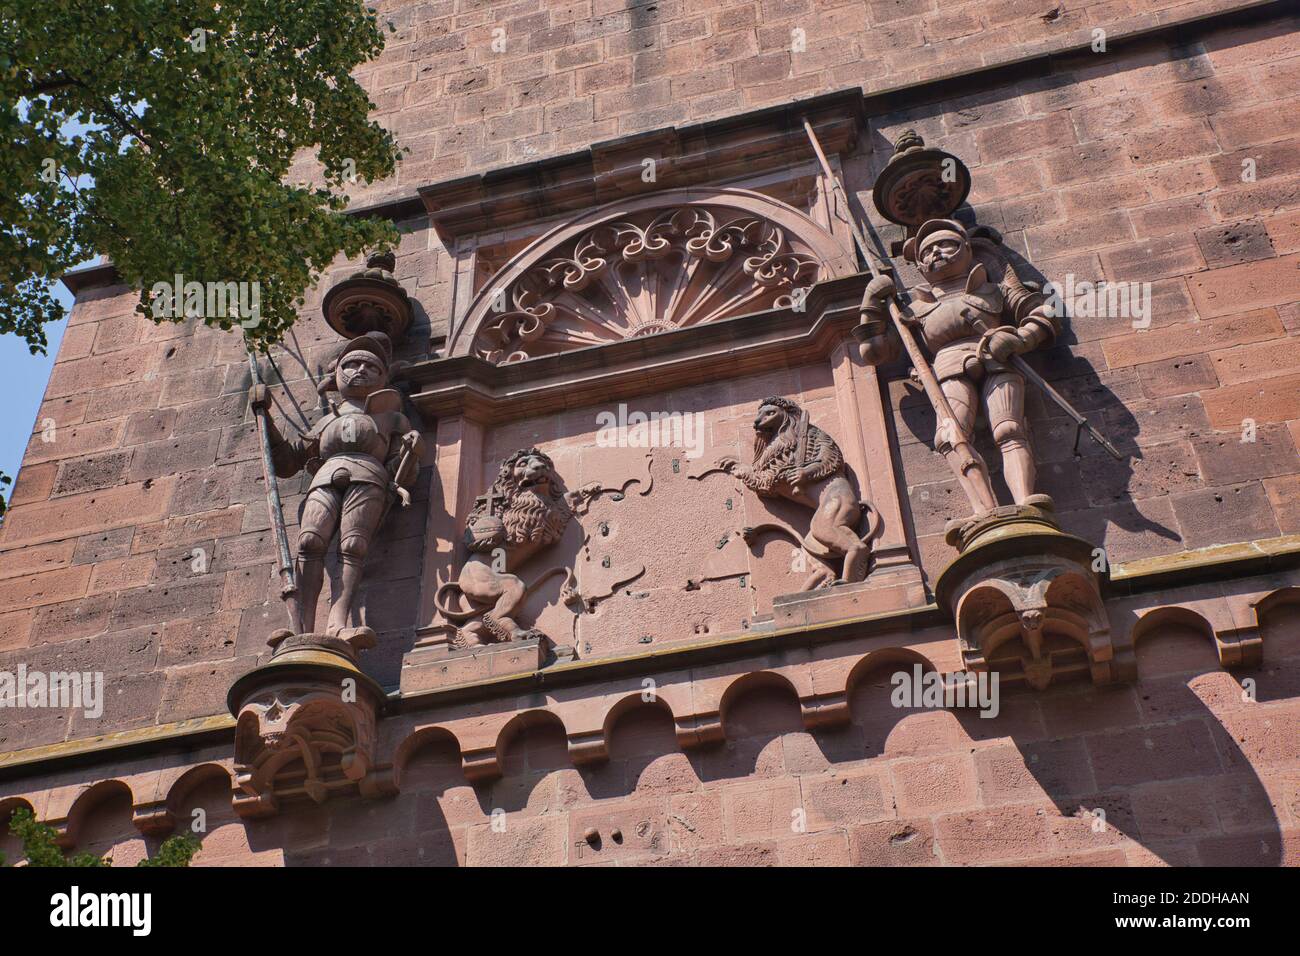
<instances>
[{"instance_id":1,"label":"left stone lion with thick curly mane, beside the left knight","mask_svg":"<svg viewBox=\"0 0 1300 956\"><path fill-rule=\"evenodd\" d=\"M564 492L555 464L537 449L520 449L500 464L497 480L480 494L465 520L471 555L455 581L438 588L434 604L456 626L454 648L545 637L516 620L524 601L543 581L563 574L560 598L581 610L572 568L555 566L525 585L516 571L564 536L573 507L598 489Z\"/></svg>"}]
</instances>

